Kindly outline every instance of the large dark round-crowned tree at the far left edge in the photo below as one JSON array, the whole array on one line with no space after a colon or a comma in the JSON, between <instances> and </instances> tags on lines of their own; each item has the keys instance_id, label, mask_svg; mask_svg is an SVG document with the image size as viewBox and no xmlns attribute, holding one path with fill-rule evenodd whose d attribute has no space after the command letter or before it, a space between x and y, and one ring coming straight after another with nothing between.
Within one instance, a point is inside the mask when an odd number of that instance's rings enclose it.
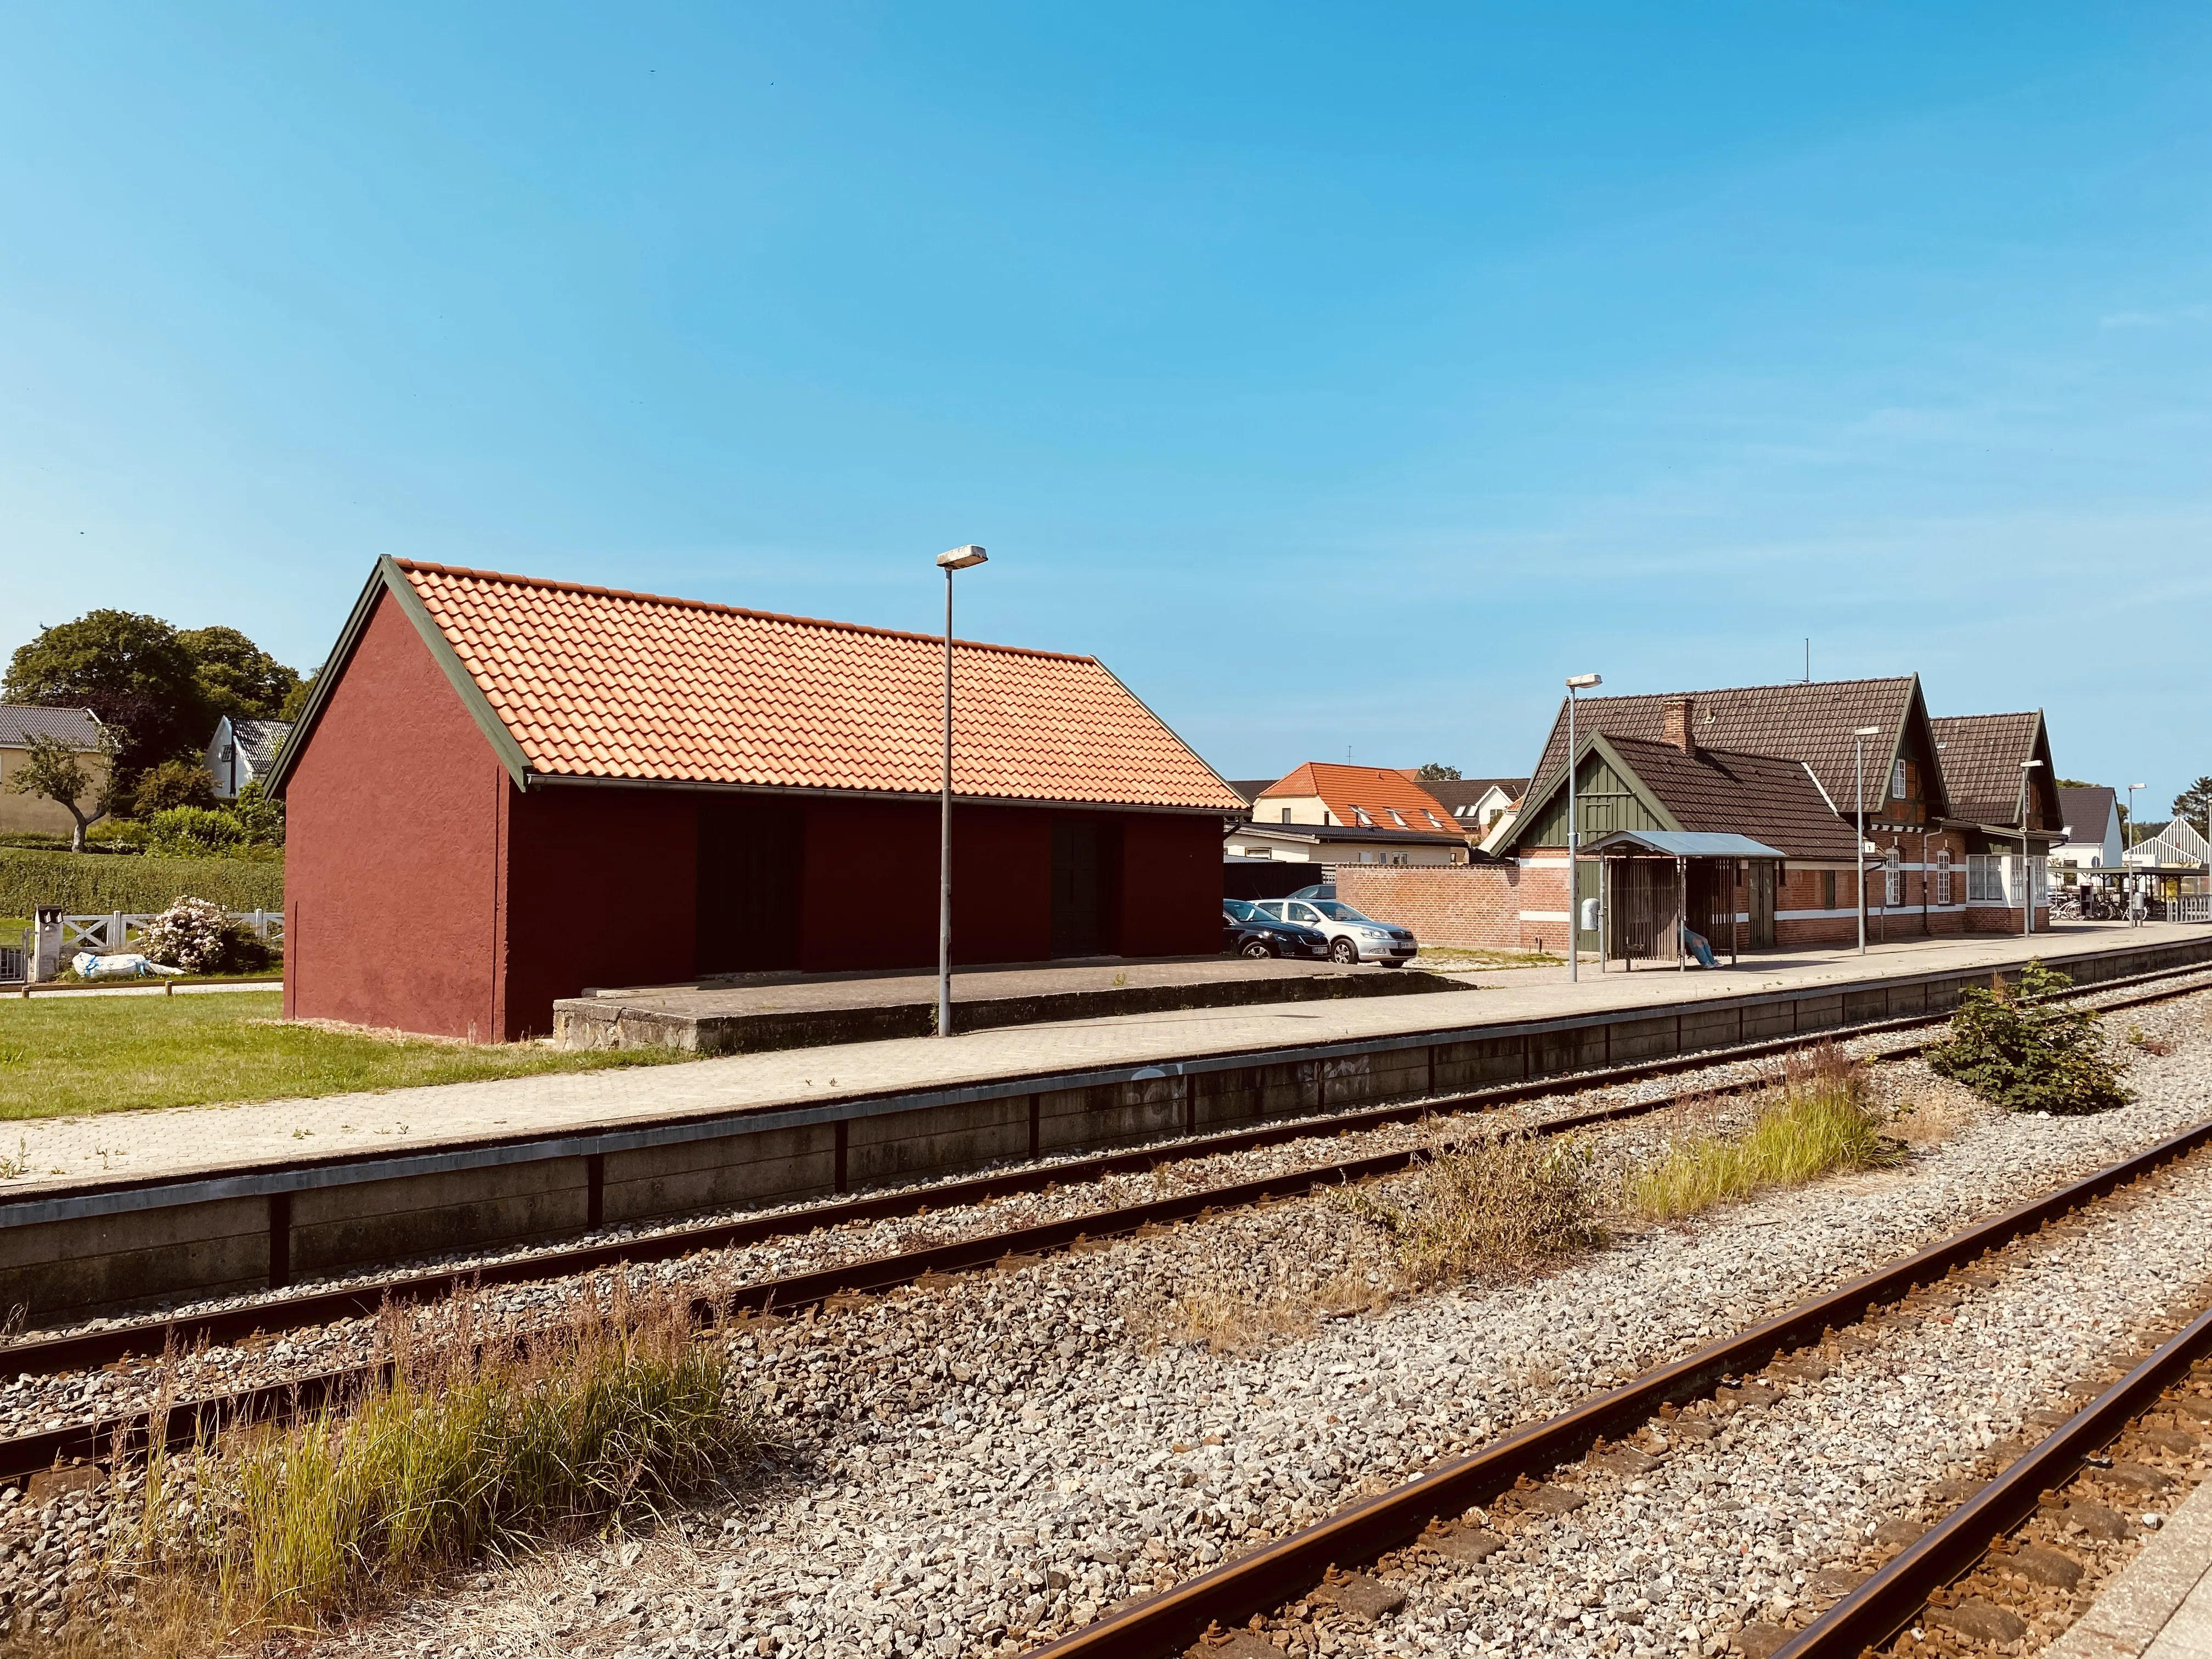
<instances>
[{"instance_id":1,"label":"large dark round-crowned tree at the far left edge","mask_svg":"<svg viewBox=\"0 0 2212 1659\"><path fill-rule=\"evenodd\" d=\"M86 611L42 628L9 659L0 697L11 703L88 708L126 732L115 774L124 783L148 765L206 748L215 714L199 688L192 653L159 617Z\"/></svg>"}]
</instances>

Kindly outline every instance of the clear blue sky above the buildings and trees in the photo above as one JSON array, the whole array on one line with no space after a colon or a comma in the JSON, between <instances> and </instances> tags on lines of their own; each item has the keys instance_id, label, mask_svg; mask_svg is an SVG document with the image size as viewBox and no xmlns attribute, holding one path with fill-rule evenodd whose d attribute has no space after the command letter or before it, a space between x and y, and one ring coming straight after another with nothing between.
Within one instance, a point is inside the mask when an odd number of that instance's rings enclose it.
<instances>
[{"instance_id":1,"label":"clear blue sky above the buildings and trees","mask_svg":"<svg viewBox=\"0 0 2212 1659\"><path fill-rule=\"evenodd\" d=\"M0 650L378 553L1104 657L1232 776L1920 670L2212 772L2212 13L0 7Z\"/></svg>"}]
</instances>

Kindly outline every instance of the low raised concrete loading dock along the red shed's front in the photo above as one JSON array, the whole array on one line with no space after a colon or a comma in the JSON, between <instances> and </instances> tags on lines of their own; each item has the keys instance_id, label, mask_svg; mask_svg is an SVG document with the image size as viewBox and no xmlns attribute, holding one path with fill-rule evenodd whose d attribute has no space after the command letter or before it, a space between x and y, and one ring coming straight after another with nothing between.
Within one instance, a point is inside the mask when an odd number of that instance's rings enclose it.
<instances>
[{"instance_id":1,"label":"low raised concrete loading dock along the red shed's front","mask_svg":"<svg viewBox=\"0 0 2212 1659\"><path fill-rule=\"evenodd\" d=\"M1177 1009L1462 991L1464 984L1380 962L1248 962L1237 956L1022 962L953 975L953 1031L1104 1020ZM761 973L697 984L586 991L553 1004L560 1048L686 1048L701 1055L821 1048L929 1037L936 973Z\"/></svg>"}]
</instances>

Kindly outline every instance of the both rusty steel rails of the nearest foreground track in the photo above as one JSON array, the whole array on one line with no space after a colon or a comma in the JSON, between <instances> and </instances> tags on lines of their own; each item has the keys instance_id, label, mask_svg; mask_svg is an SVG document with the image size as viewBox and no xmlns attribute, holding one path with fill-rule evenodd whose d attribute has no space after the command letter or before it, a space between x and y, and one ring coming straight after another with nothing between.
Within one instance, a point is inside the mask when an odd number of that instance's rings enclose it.
<instances>
[{"instance_id":1,"label":"both rusty steel rails of the nearest foreground track","mask_svg":"<svg viewBox=\"0 0 2212 1659\"><path fill-rule=\"evenodd\" d=\"M2212 1121L1073 1630L1035 1648L1035 1659L1159 1659L1181 1652L1210 1630L1237 1630L1256 1615L1265 1617L1296 1601L1321 1586L1332 1571L1358 1568L1416 1542L1449 1537L1467 1511L1491 1504L1517 1482L1542 1482L1555 1469L1588 1455L1599 1442L1635 1433L1659 1416L1661 1407L1679 1407L1710 1394L1725 1378L1747 1376L1796 1349L1816 1347L1827 1332L1900 1303L1918 1287L1964 1272L1982 1256L2099 1203L2205 1146L2212 1146ZM2212 1312L2192 1321L2157 1356L2106 1389L1997 1482L1832 1608L1823 1621L1798 1632L1776 1659L1812 1655L1856 1659L1867 1646L1887 1641L1905 1628L1931 1590L1971 1568L1995 1533L2033 1511L2042 1491L2073 1473L2208 1349L2212 1349Z\"/></svg>"}]
</instances>

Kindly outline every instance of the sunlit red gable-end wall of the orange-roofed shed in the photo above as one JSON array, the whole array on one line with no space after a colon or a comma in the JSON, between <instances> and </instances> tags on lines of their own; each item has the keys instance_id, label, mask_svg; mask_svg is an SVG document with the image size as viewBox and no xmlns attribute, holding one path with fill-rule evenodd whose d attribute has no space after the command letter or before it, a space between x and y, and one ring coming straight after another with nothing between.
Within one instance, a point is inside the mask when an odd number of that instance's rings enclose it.
<instances>
[{"instance_id":1,"label":"sunlit red gable-end wall of the orange-roofed shed","mask_svg":"<svg viewBox=\"0 0 2212 1659\"><path fill-rule=\"evenodd\" d=\"M502 1035L511 787L414 624L378 597L285 787L288 1018Z\"/></svg>"}]
</instances>

